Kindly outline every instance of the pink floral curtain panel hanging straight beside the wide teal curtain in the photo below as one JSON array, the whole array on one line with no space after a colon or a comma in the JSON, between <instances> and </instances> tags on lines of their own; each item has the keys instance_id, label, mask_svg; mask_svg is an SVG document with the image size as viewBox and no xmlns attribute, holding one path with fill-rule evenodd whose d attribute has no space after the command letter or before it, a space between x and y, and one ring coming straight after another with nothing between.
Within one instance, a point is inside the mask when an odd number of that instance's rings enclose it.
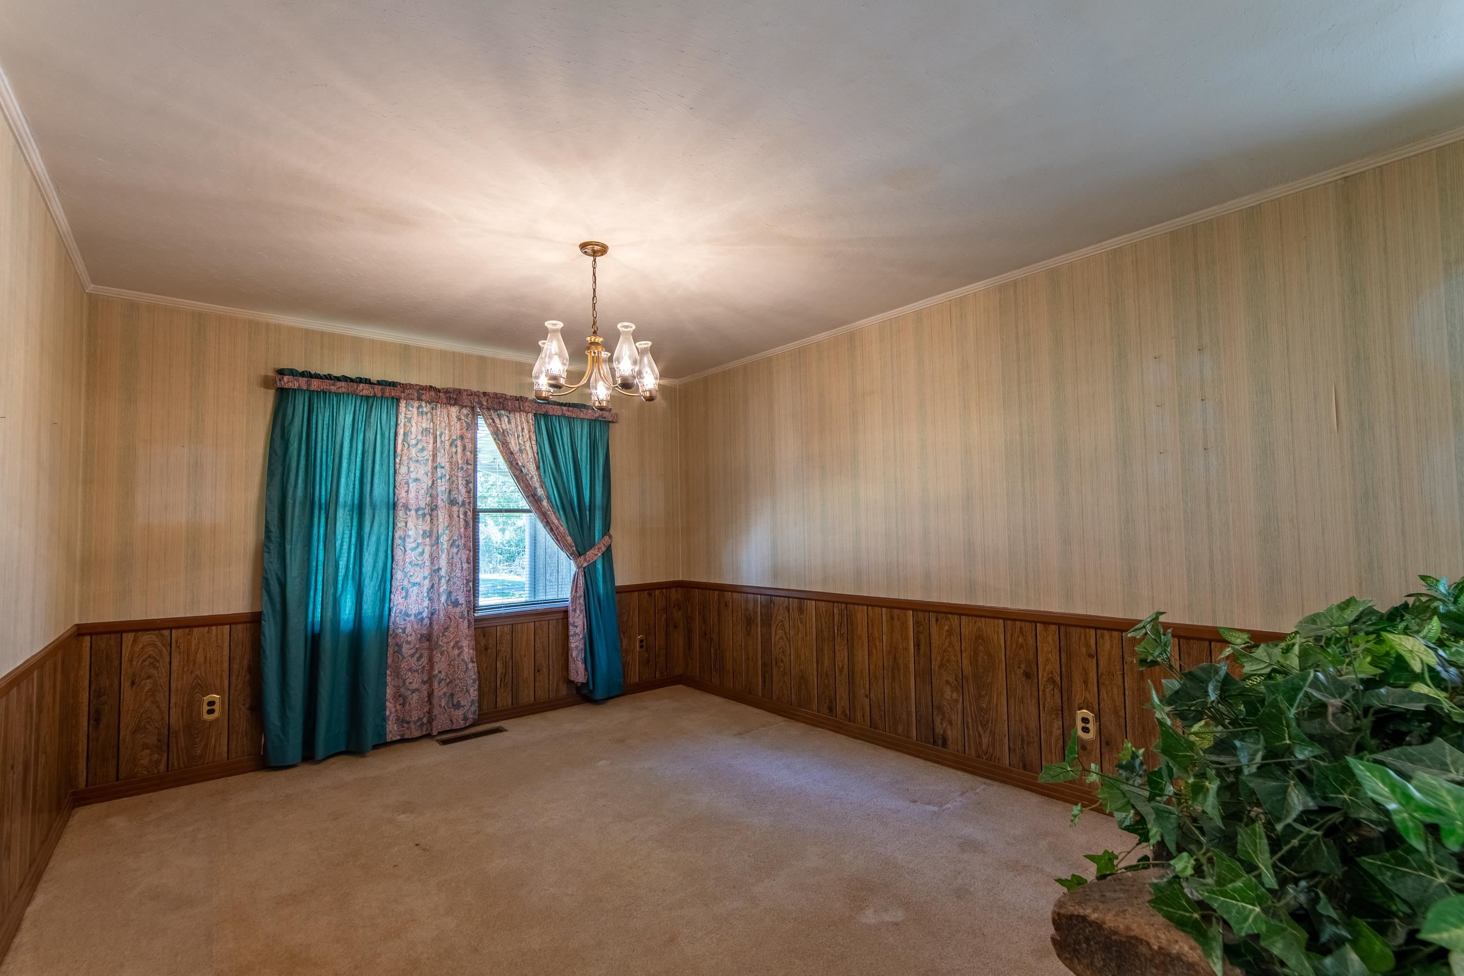
<instances>
[{"instance_id":1,"label":"pink floral curtain panel hanging straight beside the wide teal curtain","mask_svg":"<svg viewBox=\"0 0 1464 976\"><path fill-rule=\"evenodd\" d=\"M477 718L473 521L477 411L397 404L386 739Z\"/></svg>"}]
</instances>

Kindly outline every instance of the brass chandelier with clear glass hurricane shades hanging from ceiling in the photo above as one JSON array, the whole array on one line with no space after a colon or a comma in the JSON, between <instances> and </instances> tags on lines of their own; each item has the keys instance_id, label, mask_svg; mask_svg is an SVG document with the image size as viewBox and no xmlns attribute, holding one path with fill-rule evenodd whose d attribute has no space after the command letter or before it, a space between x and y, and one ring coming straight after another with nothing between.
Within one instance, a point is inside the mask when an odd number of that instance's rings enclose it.
<instances>
[{"instance_id":1,"label":"brass chandelier with clear glass hurricane shades hanging from ceiling","mask_svg":"<svg viewBox=\"0 0 1464 976\"><path fill-rule=\"evenodd\" d=\"M539 342L539 360L534 363L534 399L549 401L552 397L568 397L581 386L589 386L590 405L596 410L610 408L610 391L625 397L640 397L650 402L656 399L660 386L660 370L656 360L650 357L650 342L637 342L631 338L635 326L621 322L621 339L615 344L615 354L606 359L605 339L600 337L599 309L599 260L609 247L597 240L587 240L580 244L580 253L590 259L590 335L584 347L586 367L584 376L572 386L567 383L569 372L569 350L564 344L561 331L564 322L549 320L549 338Z\"/></svg>"}]
</instances>

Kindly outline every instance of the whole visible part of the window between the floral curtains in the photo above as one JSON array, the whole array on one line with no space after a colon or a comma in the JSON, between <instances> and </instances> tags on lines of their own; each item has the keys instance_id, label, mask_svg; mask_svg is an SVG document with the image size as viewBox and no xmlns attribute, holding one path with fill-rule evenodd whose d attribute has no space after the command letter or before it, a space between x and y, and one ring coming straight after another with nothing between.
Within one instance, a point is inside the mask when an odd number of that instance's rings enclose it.
<instances>
[{"instance_id":1,"label":"whole visible part of the window between the floral curtains","mask_svg":"<svg viewBox=\"0 0 1464 976\"><path fill-rule=\"evenodd\" d=\"M477 609L564 603L574 563L539 522L477 418Z\"/></svg>"}]
</instances>

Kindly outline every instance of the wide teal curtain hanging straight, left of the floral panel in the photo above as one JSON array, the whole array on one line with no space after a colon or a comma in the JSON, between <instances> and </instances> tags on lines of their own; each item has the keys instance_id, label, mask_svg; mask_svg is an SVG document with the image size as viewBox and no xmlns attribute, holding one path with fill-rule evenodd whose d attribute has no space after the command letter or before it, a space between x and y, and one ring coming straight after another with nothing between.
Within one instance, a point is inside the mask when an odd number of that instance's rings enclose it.
<instances>
[{"instance_id":1,"label":"wide teal curtain hanging straight, left of the floral panel","mask_svg":"<svg viewBox=\"0 0 1464 976\"><path fill-rule=\"evenodd\" d=\"M395 399L275 391L261 625L269 765L386 739L395 440Z\"/></svg>"}]
</instances>

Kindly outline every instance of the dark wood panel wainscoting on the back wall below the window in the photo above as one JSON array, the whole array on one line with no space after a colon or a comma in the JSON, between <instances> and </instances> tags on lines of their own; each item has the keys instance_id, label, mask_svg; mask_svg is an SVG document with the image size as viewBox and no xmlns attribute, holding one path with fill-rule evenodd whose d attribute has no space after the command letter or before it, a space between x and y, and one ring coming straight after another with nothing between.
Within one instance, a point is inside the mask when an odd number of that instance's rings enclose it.
<instances>
[{"instance_id":1,"label":"dark wood panel wainscoting on the back wall below the window","mask_svg":"<svg viewBox=\"0 0 1464 976\"><path fill-rule=\"evenodd\" d=\"M628 692L681 675L682 658L666 653L665 597L660 584L616 591ZM662 623L647 628L641 650L637 628L657 609ZM79 634L89 642L89 667L78 805L264 768L258 610L83 623ZM567 673L564 607L485 615L473 635L479 723L584 701ZM220 697L217 718L202 717L205 695Z\"/></svg>"}]
</instances>

